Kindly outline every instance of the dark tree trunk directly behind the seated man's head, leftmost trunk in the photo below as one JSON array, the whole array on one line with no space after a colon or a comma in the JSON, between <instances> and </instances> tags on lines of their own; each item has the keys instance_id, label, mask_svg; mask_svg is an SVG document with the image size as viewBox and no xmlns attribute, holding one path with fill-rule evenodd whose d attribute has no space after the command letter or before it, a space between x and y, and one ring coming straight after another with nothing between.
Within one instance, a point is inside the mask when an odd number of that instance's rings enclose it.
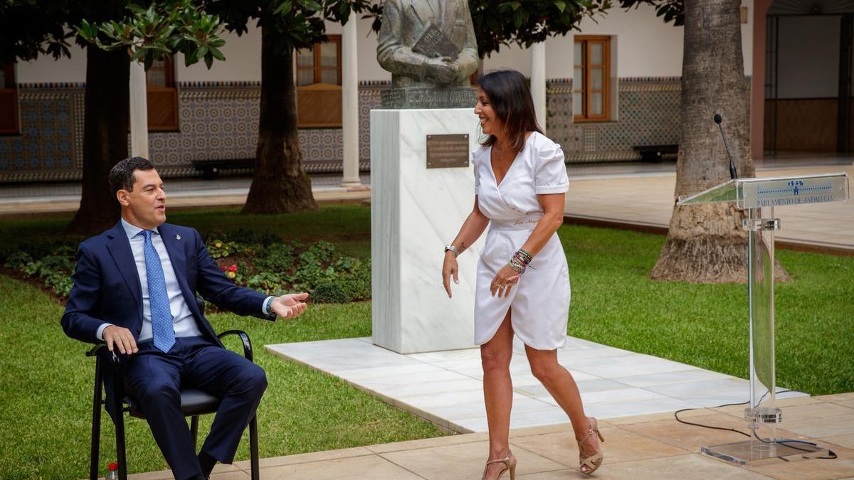
<instances>
[{"instance_id":1,"label":"dark tree trunk directly behind the seated man's head, leftmost trunk","mask_svg":"<svg viewBox=\"0 0 854 480\"><path fill-rule=\"evenodd\" d=\"M86 47L83 190L69 233L94 235L119 221L119 202L108 177L110 168L127 157L130 66L126 50Z\"/></svg>"}]
</instances>

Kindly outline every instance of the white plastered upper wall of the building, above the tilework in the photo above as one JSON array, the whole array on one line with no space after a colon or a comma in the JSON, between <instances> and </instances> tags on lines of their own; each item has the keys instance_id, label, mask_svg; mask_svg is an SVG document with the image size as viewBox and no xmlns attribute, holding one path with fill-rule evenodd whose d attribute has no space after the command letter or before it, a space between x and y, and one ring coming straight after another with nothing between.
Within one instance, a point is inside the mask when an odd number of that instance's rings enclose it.
<instances>
[{"instance_id":1,"label":"white plastered upper wall of the building, above the tilework","mask_svg":"<svg viewBox=\"0 0 854 480\"><path fill-rule=\"evenodd\" d=\"M752 10L753 0L742 0L742 5ZM752 66L752 20L742 24L741 42L744 51L745 73ZM371 32L371 20L359 19L359 79L361 81L388 81L391 74L377 63L377 34ZM617 36L617 77L670 77L681 75L682 31L681 26L664 21L655 15L655 9L641 5L626 11L618 7L595 20L582 21L580 32L570 32L564 37L549 38L546 42L546 78L569 79L572 77L573 38L581 35ZM327 22L327 32L340 34L341 26ZM839 27L837 26L837 30ZM238 37L225 33L222 48L226 62L214 61L208 70L204 62L184 67L183 58L178 58L177 79L180 82L199 81L260 81L260 28L249 28L249 32ZM18 67L20 83L42 82L85 82L85 51L78 46L72 48L72 58L54 61L50 57L39 57L37 61L21 62ZM484 60L485 70L515 68L529 75L529 52L511 45L502 47Z\"/></svg>"}]
</instances>

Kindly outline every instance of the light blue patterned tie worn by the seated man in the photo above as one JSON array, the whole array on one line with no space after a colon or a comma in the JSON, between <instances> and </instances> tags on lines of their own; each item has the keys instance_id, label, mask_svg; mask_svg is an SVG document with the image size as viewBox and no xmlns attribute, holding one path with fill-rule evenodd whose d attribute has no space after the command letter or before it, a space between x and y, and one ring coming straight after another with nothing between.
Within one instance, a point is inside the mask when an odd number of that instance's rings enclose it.
<instances>
[{"instance_id":1,"label":"light blue patterned tie worn by the seated man","mask_svg":"<svg viewBox=\"0 0 854 480\"><path fill-rule=\"evenodd\" d=\"M169 294L166 290L166 277L163 275L163 264L157 255L154 244L151 243L150 230L140 233L145 237L143 252L145 253L145 276L149 284L149 306L151 309L151 335L155 347L167 353L175 344L172 310L169 309Z\"/></svg>"}]
</instances>

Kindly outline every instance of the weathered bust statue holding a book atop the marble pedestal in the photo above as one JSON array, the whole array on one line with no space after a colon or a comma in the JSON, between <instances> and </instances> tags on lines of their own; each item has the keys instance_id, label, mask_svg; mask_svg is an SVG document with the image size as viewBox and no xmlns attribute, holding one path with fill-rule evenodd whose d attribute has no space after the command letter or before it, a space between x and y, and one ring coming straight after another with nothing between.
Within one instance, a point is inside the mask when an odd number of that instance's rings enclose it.
<instances>
[{"instance_id":1,"label":"weathered bust statue holding a book atop the marble pedestal","mask_svg":"<svg viewBox=\"0 0 854 480\"><path fill-rule=\"evenodd\" d=\"M391 72L383 107L474 105L477 41L467 0L385 0L377 61Z\"/></svg>"}]
</instances>

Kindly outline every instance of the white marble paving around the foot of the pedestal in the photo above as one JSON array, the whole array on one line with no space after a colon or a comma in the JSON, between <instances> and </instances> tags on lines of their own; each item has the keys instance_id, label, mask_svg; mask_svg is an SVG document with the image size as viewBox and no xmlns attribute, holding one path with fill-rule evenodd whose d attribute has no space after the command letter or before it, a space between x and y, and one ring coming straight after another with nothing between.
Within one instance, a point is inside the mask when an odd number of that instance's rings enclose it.
<instances>
[{"instance_id":1,"label":"white marble paving around the foot of the pedestal","mask_svg":"<svg viewBox=\"0 0 854 480\"><path fill-rule=\"evenodd\" d=\"M285 360L342 378L444 429L459 433L487 430L477 348L404 355L373 345L369 337L280 343L265 348ZM558 350L558 359L576 378L588 414L601 419L717 407L748 398L745 379L574 337L567 337ZM530 373L524 345L518 338L514 338L510 370L512 429L568 421ZM781 398L797 396L805 394L779 394ZM836 435L832 430L826 433Z\"/></svg>"}]
</instances>

